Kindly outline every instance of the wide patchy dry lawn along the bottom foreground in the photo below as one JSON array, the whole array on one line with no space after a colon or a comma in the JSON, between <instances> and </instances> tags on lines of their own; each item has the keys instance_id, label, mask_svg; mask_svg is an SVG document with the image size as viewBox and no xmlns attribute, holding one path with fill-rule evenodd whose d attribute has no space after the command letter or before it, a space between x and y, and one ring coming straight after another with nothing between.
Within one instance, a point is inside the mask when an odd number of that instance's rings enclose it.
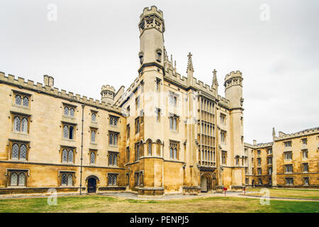
<instances>
[{"instance_id":1,"label":"wide patchy dry lawn along the bottom foreground","mask_svg":"<svg viewBox=\"0 0 319 227\"><path fill-rule=\"evenodd\" d=\"M142 201L87 195L58 197L56 206L47 205L46 198L0 199L0 212L319 212L319 202L271 200L262 206L259 199L227 196Z\"/></svg>"}]
</instances>

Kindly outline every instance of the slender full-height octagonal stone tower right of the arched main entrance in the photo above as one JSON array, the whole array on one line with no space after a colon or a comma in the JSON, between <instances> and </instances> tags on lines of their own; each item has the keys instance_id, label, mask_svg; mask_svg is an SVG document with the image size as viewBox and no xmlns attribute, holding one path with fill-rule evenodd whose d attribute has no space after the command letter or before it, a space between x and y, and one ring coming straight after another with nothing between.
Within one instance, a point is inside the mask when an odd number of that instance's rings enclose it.
<instances>
[{"instance_id":1,"label":"slender full-height octagonal stone tower right of the arched main entrance","mask_svg":"<svg viewBox=\"0 0 319 227\"><path fill-rule=\"evenodd\" d=\"M230 165L232 185L245 185L244 157L244 119L242 104L242 72L230 72L225 76L225 98L230 101Z\"/></svg>"}]
</instances>

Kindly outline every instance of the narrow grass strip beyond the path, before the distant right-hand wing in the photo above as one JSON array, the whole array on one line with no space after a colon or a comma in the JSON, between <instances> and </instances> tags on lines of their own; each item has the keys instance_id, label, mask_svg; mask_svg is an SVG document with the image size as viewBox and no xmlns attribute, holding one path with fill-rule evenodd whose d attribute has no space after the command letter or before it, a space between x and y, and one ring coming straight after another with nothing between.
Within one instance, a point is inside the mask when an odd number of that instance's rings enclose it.
<instances>
[{"instance_id":1,"label":"narrow grass strip beyond the path, before the distant right-hand wing","mask_svg":"<svg viewBox=\"0 0 319 227\"><path fill-rule=\"evenodd\" d=\"M247 189L251 195L261 196L260 188ZM319 199L319 190L315 189L269 189L269 196L298 199Z\"/></svg>"}]
</instances>

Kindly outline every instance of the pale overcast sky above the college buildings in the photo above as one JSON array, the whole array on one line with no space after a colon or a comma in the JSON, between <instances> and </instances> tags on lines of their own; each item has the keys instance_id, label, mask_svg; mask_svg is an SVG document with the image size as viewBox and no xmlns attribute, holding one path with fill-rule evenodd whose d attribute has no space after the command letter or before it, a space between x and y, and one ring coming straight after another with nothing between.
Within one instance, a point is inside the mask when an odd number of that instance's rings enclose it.
<instances>
[{"instance_id":1,"label":"pale overcast sky above the college buildings","mask_svg":"<svg viewBox=\"0 0 319 227\"><path fill-rule=\"evenodd\" d=\"M319 126L317 0L1 0L0 71L35 82L49 74L55 87L94 99L103 84L128 88L138 76L140 13L152 5L164 13L164 45L181 75L191 52L194 77L211 84L216 68L224 96L225 74L242 72L245 142L272 141L273 126Z\"/></svg>"}]
</instances>

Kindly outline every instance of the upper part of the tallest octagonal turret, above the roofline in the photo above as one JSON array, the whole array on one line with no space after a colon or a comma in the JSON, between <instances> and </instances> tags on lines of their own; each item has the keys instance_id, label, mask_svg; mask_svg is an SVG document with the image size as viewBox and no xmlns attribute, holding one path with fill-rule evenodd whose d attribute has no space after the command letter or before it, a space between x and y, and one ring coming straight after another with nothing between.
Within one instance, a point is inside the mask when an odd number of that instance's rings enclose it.
<instances>
[{"instance_id":1,"label":"upper part of the tallest octagonal turret, above the roofline","mask_svg":"<svg viewBox=\"0 0 319 227\"><path fill-rule=\"evenodd\" d=\"M146 7L140 15L140 70L147 65L163 65L164 19L156 6Z\"/></svg>"}]
</instances>

